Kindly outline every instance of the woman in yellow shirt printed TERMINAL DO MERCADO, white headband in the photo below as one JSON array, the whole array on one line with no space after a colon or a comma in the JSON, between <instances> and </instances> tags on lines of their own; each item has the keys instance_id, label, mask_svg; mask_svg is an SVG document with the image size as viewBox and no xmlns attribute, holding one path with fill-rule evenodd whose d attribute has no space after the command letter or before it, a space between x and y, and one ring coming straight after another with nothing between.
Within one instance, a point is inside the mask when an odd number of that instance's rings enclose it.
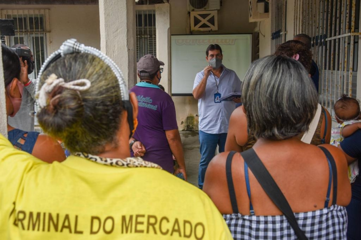
<instances>
[{"instance_id":1,"label":"woman in yellow shirt printed TERMINAL DO MERCADO, white headband","mask_svg":"<svg viewBox=\"0 0 361 240\"><path fill-rule=\"evenodd\" d=\"M65 41L36 92L39 124L72 155L44 163L0 134L0 239L232 239L206 194L130 157L137 100L99 50Z\"/></svg>"}]
</instances>

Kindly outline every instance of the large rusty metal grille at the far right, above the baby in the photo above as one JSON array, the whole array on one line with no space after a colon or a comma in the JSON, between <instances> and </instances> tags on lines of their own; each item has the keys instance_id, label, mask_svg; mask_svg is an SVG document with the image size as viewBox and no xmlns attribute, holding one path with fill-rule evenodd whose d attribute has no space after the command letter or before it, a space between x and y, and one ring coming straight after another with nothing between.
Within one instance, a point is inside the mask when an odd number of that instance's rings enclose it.
<instances>
[{"instance_id":1,"label":"large rusty metal grille at the far right, above the baby","mask_svg":"<svg viewBox=\"0 0 361 240\"><path fill-rule=\"evenodd\" d=\"M360 1L295 0L295 34L312 38L319 101L332 116L342 94L356 98L359 18Z\"/></svg>"}]
</instances>

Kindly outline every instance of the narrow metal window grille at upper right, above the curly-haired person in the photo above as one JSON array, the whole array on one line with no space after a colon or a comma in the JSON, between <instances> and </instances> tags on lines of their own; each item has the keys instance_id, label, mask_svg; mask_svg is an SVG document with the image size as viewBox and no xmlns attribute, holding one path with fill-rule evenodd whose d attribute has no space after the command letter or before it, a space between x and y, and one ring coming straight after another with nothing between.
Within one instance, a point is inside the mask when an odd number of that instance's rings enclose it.
<instances>
[{"instance_id":1,"label":"narrow metal window grille at upper right, above the curly-haired person","mask_svg":"<svg viewBox=\"0 0 361 240\"><path fill-rule=\"evenodd\" d=\"M276 51L277 45L286 41L286 9L287 0L270 1L271 9L271 53Z\"/></svg>"}]
</instances>

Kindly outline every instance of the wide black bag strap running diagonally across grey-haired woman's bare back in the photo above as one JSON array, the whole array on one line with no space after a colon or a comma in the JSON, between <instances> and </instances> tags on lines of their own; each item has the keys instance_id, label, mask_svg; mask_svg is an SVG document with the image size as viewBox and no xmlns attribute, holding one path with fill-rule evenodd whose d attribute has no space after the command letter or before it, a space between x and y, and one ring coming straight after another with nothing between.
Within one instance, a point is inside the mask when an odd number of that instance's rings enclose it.
<instances>
[{"instance_id":1,"label":"wide black bag strap running diagonally across grey-haired woman's bare back","mask_svg":"<svg viewBox=\"0 0 361 240\"><path fill-rule=\"evenodd\" d=\"M241 155L244 161L247 163L249 169L253 175L255 175L257 181L262 186L263 190L270 197L273 203L282 211L283 215L287 218L290 223L293 231L295 231L296 236L300 240L307 240L306 235L298 226L295 215L288 204L286 197L284 197L282 191L277 186L277 183L274 181L265 165L263 165L261 159L257 156L255 150L250 148L247 151L241 152Z\"/></svg>"}]
</instances>

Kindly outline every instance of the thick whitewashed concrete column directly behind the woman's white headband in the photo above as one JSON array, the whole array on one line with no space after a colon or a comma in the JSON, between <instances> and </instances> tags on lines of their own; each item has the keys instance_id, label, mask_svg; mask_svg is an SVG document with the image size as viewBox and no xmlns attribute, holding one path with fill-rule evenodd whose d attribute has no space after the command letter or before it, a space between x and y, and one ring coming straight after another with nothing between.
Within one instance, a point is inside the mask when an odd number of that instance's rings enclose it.
<instances>
[{"instance_id":1,"label":"thick whitewashed concrete column directly behind the woman's white headband","mask_svg":"<svg viewBox=\"0 0 361 240\"><path fill-rule=\"evenodd\" d=\"M128 88L136 84L135 1L99 0L100 50L123 72Z\"/></svg>"}]
</instances>

